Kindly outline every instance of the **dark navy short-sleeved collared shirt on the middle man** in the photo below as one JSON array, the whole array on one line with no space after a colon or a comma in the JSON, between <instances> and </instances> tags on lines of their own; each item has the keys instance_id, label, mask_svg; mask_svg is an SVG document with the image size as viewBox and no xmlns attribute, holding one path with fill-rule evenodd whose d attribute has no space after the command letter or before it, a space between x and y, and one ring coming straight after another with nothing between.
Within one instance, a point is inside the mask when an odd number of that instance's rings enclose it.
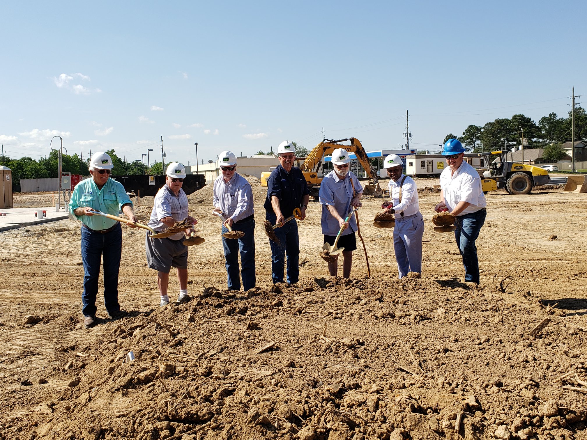
<instances>
[{"instance_id":1,"label":"dark navy short-sleeved collared shirt on the middle man","mask_svg":"<svg viewBox=\"0 0 587 440\"><path fill-rule=\"evenodd\" d=\"M310 194L306 178L303 177L302 171L297 167L287 172L284 167L278 165L267 179L267 198L263 207L266 214L273 213L271 206L271 197L279 199L279 209L284 217L294 214L294 208L299 208L302 204L302 198ZM295 220L294 220L295 221Z\"/></svg>"}]
</instances>

